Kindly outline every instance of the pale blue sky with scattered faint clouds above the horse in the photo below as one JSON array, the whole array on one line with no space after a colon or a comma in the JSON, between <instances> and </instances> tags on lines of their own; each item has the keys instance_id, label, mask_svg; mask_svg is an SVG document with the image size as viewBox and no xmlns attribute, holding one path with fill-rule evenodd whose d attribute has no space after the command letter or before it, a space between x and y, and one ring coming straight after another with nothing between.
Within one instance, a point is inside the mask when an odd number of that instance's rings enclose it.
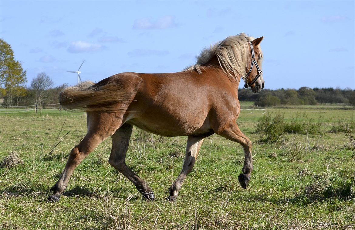
<instances>
[{"instance_id":1,"label":"pale blue sky with scattered faint clouds above the horse","mask_svg":"<svg viewBox=\"0 0 355 230\"><path fill-rule=\"evenodd\" d=\"M116 73L177 72L203 47L264 36L268 89L355 89L355 1L0 1L0 37L55 85ZM241 83L242 87L244 83Z\"/></svg>"}]
</instances>

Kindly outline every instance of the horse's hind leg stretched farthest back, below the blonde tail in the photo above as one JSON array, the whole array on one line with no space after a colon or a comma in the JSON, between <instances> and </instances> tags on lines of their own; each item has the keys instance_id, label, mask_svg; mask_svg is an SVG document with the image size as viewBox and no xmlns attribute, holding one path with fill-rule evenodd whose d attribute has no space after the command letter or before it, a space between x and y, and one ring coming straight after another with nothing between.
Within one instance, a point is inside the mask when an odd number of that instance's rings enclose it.
<instances>
[{"instance_id":1,"label":"horse's hind leg stretched farthest back, below the blonde tail","mask_svg":"<svg viewBox=\"0 0 355 230\"><path fill-rule=\"evenodd\" d=\"M103 140L112 135L118 129L121 119L116 118L113 113L87 113L88 114L88 133L84 139L75 146L65 165L64 171L59 180L53 186L53 194L49 195L49 201L58 201L64 192L70 177L84 158L89 155Z\"/></svg>"}]
</instances>

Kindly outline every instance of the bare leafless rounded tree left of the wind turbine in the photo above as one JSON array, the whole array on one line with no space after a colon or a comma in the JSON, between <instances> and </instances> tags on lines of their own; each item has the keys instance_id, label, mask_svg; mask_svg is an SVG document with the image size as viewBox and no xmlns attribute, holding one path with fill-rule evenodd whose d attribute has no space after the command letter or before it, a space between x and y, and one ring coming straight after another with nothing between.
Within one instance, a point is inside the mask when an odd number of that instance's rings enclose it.
<instances>
[{"instance_id":1,"label":"bare leafless rounded tree left of the wind turbine","mask_svg":"<svg viewBox=\"0 0 355 230\"><path fill-rule=\"evenodd\" d=\"M54 85L52 79L44 72L32 79L30 89L34 92L35 103L40 105L48 96L48 89Z\"/></svg>"}]
</instances>

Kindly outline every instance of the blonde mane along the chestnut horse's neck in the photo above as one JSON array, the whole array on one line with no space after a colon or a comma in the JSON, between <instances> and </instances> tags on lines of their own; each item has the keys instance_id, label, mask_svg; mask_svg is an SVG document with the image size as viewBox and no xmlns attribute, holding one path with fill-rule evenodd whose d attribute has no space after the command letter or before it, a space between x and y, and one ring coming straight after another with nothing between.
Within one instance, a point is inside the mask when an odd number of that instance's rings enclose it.
<instances>
[{"instance_id":1,"label":"blonde mane along the chestnut horse's neck","mask_svg":"<svg viewBox=\"0 0 355 230\"><path fill-rule=\"evenodd\" d=\"M250 60L250 44L255 38L240 33L229 36L222 42L217 42L209 48L204 48L200 55L196 56L196 64L188 66L184 71L194 71L202 74L201 69L215 56L221 69L232 79L240 76L245 81L246 69ZM260 50L261 52L261 50ZM257 60L258 61L258 60Z\"/></svg>"}]
</instances>

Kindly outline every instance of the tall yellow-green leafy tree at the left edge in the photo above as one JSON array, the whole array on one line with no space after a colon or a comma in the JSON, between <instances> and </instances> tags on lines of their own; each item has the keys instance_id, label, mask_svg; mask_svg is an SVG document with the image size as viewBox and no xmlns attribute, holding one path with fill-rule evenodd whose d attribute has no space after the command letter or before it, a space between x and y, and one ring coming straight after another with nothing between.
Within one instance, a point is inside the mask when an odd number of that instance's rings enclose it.
<instances>
[{"instance_id":1,"label":"tall yellow-green leafy tree at the left edge","mask_svg":"<svg viewBox=\"0 0 355 230\"><path fill-rule=\"evenodd\" d=\"M10 44L0 38L0 93L6 105L11 106L16 98L18 103L18 97L26 95L26 82L26 71L15 60Z\"/></svg>"}]
</instances>

